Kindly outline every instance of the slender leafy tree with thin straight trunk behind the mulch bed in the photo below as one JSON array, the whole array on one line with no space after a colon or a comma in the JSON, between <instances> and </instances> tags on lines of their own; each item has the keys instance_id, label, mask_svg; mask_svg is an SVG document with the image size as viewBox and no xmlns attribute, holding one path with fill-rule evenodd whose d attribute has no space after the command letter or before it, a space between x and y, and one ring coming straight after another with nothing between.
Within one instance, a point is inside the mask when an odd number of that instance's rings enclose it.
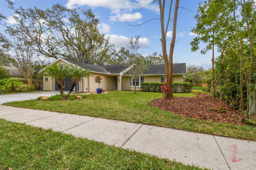
<instances>
[{"instance_id":1,"label":"slender leafy tree with thin straight trunk behind the mulch bed","mask_svg":"<svg viewBox=\"0 0 256 170\"><path fill-rule=\"evenodd\" d=\"M196 28L192 29L192 32L198 36L190 43L192 51L199 49L200 42L206 44L204 49L201 49L202 54L212 50L212 99L214 99L214 46L225 36L220 34L220 31L224 27L223 23L228 19L225 15L230 14L230 9L226 8L225 3L226 0L208 0L199 6L198 13L194 17L197 21Z\"/></svg>"}]
</instances>

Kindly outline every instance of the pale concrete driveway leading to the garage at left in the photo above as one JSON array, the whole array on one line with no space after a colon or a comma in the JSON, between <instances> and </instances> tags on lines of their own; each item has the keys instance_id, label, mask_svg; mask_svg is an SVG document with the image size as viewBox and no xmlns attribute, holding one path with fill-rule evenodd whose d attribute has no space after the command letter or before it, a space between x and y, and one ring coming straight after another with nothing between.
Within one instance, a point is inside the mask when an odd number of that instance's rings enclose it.
<instances>
[{"instance_id":1,"label":"pale concrete driveway leading to the garage at left","mask_svg":"<svg viewBox=\"0 0 256 170\"><path fill-rule=\"evenodd\" d=\"M65 91L64 93L68 94L68 91ZM39 91L37 93L17 93L10 95L0 95L0 105L11 101L32 100L37 99L40 96L50 97L59 94L60 91Z\"/></svg>"}]
</instances>

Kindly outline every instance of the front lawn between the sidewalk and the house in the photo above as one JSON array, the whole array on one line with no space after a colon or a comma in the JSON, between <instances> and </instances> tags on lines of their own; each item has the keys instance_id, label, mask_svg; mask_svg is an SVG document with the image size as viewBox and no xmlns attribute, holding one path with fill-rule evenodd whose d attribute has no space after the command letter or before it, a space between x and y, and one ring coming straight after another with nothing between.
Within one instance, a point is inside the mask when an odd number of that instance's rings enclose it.
<instances>
[{"instance_id":1,"label":"front lawn between the sidewalk and the house","mask_svg":"<svg viewBox=\"0 0 256 170\"><path fill-rule=\"evenodd\" d=\"M162 97L161 93L138 92L134 94L132 91L109 91L109 93L101 95L80 96L86 98L66 101L17 101L6 103L5 105L100 117L256 141L255 126L237 126L231 123L215 123L184 118L147 105L153 99ZM194 97L195 95L194 93L174 93L174 96Z\"/></svg>"}]
</instances>

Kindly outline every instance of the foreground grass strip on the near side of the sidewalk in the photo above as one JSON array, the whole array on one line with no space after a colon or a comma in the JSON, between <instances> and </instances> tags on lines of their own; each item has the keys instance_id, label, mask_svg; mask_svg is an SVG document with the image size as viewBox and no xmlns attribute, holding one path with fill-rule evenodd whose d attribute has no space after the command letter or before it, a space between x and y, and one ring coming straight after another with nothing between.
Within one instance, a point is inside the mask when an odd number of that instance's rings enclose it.
<instances>
[{"instance_id":1,"label":"foreground grass strip on the near side of the sidewalk","mask_svg":"<svg viewBox=\"0 0 256 170\"><path fill-rule=\"evenodd\" d=\"M1 170L199 170L50 129L0 119Z\"/></svg>"}]
</instances>

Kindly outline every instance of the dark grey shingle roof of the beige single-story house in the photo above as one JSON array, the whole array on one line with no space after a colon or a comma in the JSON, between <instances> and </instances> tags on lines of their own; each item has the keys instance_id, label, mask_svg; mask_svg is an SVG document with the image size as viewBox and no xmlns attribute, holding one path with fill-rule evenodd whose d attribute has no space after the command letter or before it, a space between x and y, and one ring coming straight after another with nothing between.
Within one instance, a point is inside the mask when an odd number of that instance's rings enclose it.
<instances>
[{"instance_id":1,"label":"dark grey shingle roof of the beige single-story house","mask_svg":"<svg viewBox=\"0 0 256 170\"><path fill-rule=\"evenodd\" d=\"M79 67L84 69L89 69L91 72L112 74L112 75L123 75L134 66L132 65L128 67L126 64L90 65L90 64L86 64L86 63L82 63L82 62L78 62L78 61L74 61L66 58L65 59L58 58L53 63L57 62L58 60L66 61L70 64L77 64ZM42 72L43 70L41 70L40 72ZM148 65L148 70L143 75L165 75L165 74L166 73L165 73L164 64L160 64L160 65ZM186 63L174 63L173 74L186 74ZM129 73L126 73L126 75L129 75Z\"/></svg>"}]
</instances>

